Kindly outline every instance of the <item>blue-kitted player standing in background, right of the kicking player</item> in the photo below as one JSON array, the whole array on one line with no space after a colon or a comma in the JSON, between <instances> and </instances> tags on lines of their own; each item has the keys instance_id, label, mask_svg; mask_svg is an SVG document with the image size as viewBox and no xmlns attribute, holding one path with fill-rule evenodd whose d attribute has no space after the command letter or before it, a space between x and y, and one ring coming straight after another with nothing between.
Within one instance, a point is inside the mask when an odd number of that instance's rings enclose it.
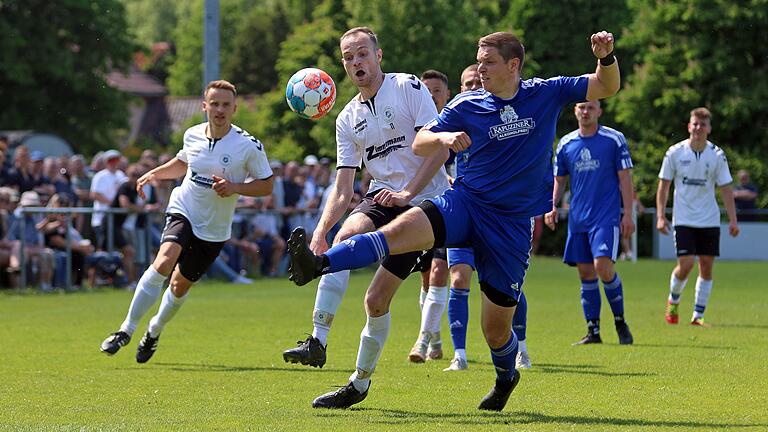
<instances>
[{"instance_id":1,"label":"blue-kitted player standing in background, right of the kicking player","mask_svg":"<svg viewBox=\"0 0 768 432\"><path fill-rule=\"evenodd\" d=\"M570 176L571 205L563 261L579 270L581 306L587 320L587 335L574 345L603 342L598 276L613 311L619 343L632 343L632 333L624 320L621 279L613 268L620 236L629 237L635 231L632 158L624 135L598 123L602 112L599 101L576 104L574 114L579 129L564 136L557 145L552 211L544 217L547 226L555 229L557 202L565 192L566 176Z\"/></svg>"}]
</instances>

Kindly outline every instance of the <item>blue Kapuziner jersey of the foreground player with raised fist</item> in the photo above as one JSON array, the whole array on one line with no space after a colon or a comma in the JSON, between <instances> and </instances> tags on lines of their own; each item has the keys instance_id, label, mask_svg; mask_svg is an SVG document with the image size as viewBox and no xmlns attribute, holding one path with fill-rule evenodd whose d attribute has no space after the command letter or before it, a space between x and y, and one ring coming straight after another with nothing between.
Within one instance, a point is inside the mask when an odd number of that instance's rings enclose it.
<instances>
[{"instance_id":1,"label":"blue Kapuziner jersey of the foreground player with raised fist","mask_svg":"<svg viewBox=\"0 0 768 432\"><path fill-rule=\"evenodd\" d=\"M552 209L552 145L564 105L583 101L588 78L521 80L517 94L499 98L484 89L457 95L425 127L466 132L472 145L457 156L453 187L474 205L511 217Z\"/></svg>"}]
</instances>

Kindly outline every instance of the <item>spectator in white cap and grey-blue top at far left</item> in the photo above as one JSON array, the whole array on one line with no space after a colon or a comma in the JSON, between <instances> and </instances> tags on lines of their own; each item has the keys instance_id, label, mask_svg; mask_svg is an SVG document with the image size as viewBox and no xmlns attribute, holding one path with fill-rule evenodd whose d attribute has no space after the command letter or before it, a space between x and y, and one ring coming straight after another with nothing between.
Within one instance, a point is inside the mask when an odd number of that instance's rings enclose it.
<instances>
[{"instance_id":1,"label":"spectator in white cap and grey-blue top at far left","mask_svg":"<svg viewBox=\"0 0 768 432\"><path fill-rule=\"evenodd\" d=\"M13 214L8 229L8 240L13 242L10 271L15 276L13 284L18 285L18 273L21 270L21 239L24 239L24 264L29 266L27 282L37 281L44 292L52 290L54 255L51 249L45 247L43 233L45 218L40 214L22 213L25 207L40 207L40 196L35 191L21 194L19 208ZM21 221L24 220L22 231Z\"/></svg>"}]
</instances>

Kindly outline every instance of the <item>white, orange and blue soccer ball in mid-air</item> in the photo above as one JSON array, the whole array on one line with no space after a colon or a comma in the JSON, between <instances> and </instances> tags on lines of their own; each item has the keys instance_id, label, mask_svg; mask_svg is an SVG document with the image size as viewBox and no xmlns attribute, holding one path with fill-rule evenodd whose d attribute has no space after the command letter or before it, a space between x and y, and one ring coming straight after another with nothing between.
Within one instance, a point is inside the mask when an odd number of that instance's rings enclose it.
<instances>
[{"instance_id":1,"label":"white, orange and blue soccer ball in mid-air","mask_svg":"<svg viewBox=\"0 0 768 432\"><path fill-rule=\"evenodd\" d=\"M336 102L336 84L331 76L316 68L302 69L288 80L285 100L303 118L317 120L328 114Z\"/></svg>"}]
</instances>

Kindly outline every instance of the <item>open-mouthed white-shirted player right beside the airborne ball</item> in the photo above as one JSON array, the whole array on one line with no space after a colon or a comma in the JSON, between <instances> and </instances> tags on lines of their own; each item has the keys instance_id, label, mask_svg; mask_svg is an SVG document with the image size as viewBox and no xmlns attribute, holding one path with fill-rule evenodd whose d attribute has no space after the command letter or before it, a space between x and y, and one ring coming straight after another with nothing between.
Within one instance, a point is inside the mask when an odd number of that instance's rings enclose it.
<instances>
[{"instance_id":1,"label":"open-mouthed white-shirted player right beside the airborne ball","mask_svg":"<svg viewBox=\"0 0 768 432\"><path fill-rule=\"evenodd\" d=\"M437 117L435 104L426 86L413 75L381 70L382 51L374 32L353 28L341 37L344 69L360 93L336 119L336 181L315 228L310 248L316 254L328 249L326 235L341 219L352 199L355 172L365 163L373 177L368 195L361 201L334 239L334 244L354 234L374 231L428 197L448 188L443 163L448 151L429 158L413 154L411 143L421 126ZM299 227L288 241L289 249L306 243ZM305 246L302 246L305 247ZM389 305L370 310L382 293L394 292L408 277L420 253L387 256L371 281L366 294L368 322L361 335L356 381L339 390L349 397L348 405L361 401L368 392L369 379L378 361L390 327ZM326 361L328 332L349 282L349 271L320 278L312 315L314 330L299 346L283 353L285 361L322 367ZM352 389L353 391L349 391ZM324 407L324 396L313 402Z\"/></svg>"}]
</instances>

